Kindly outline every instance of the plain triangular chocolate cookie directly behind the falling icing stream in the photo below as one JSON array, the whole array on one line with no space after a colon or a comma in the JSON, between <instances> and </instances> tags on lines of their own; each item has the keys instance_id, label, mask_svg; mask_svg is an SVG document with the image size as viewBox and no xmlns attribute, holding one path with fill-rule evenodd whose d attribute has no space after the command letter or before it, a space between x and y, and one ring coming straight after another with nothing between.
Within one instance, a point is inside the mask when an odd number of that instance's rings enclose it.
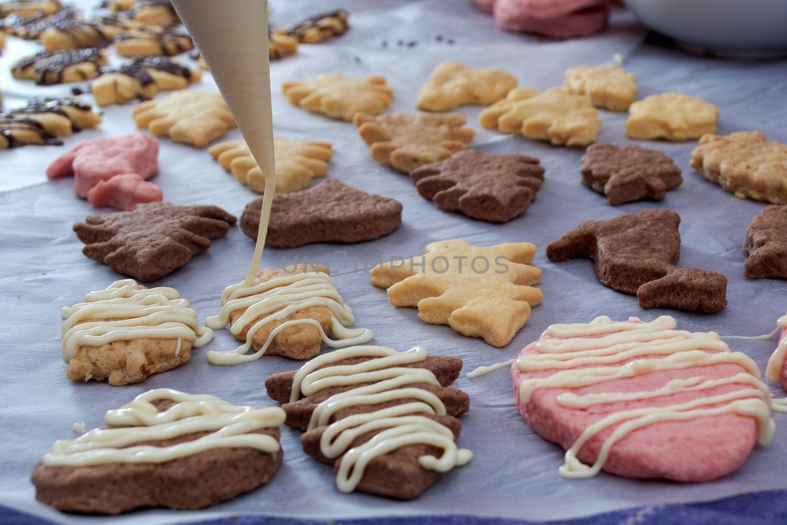
<instances>
[{"instance_id":1,"label":"plain triangular chocolate cookie directly behind the falling icing stream","mask_svg":"<svg viewBox=\"0 0 787 525\"><path fill-rule=\"evenodd\" d=\"M241 229L257 239L262 196L246 205ZM401 203L368 194L336 179L305 190L275 194L265 246L294 248L310 242L362 242L401 224Z\"/></svg>"}]
</instances>

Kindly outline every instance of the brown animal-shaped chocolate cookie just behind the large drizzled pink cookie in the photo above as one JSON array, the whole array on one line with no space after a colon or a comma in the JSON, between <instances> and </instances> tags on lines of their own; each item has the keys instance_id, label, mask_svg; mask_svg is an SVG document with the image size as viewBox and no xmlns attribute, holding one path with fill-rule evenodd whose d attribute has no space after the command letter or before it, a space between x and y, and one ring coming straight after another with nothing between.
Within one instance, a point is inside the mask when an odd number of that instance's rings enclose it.
<instances>
[{"instance_id":1,"label":"brown animal-shaped chocolate cookie just behind the large drizzled pink cookie","mask_svg":"<svg viewBox=\"0 0 787 525\"><path fill-rule=\"evenodd\" d=\"M648 209L610 220L588 220L546 247L549 261L593 259L602 284L637 295L642 308L718 312L727 305L724 275L678 268L681 218Z\"/></svg>"}]
</instances>

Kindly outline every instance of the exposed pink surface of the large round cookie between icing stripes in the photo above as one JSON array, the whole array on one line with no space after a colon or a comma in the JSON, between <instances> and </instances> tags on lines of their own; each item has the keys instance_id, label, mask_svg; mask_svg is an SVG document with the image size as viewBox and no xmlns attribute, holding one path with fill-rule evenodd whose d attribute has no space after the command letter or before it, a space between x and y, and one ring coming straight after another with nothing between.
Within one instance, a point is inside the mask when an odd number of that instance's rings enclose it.
<instances>
[{"instance_id":1,"label":"exposed pink surface of the large round cookie between icing stripes","mask_svg":"<svg viewBox=\"0 0 787 525\"><path fill-rule=\"evenodd\" d=\"M601 337L606 334L598 335ZM538 353L535 342L519 355ZM651 357L651 356L643 356ZM653 356L656 357L656 356ZM678 370L662 370L613 379L579 388L537 388L527 403L519 399L519 385L525 379L547 377L556 370L519 372L512 365L516 407L527 424L543 438L569 449L592 423L611 412L641 409L652 406L675 405L697 397L723 394L745 386L728 384L703 391L685 390L669 396L635 401L591 405L589 408L570 409L557 402L564 392L590 394L600 392L639 392L656 390L671 379L721 379L745 372L737 364L713 364ZM711 408L713 405L708 405ZM616 425L605 428L586 442L578 459L593 464L604 440ZM630 432L612 446L604 471L627 478L672 479L680 482L703 482L730 474L741 467L756 443L756 420L734 413L708 416L686 421L653 423ZM556 465L555 468L557 468Z\"/></svg>"}]
</instances>

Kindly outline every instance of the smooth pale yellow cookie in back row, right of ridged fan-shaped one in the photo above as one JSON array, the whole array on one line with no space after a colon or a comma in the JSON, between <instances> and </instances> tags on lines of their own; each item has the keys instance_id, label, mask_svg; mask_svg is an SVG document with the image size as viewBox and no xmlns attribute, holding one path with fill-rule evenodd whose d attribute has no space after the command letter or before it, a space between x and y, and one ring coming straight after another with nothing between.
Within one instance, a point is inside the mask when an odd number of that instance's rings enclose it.
<instances>
[{"instance_id":1,"label":"smooth pale yellow cookie in back row, right of ridged fan-shaped one","mask_svg":"<svg viewBox=\"0 0 787 525\"><path fill-rule=\"evenodd\" d=\"M516 87L516 79L500 69L473 69L459 62L438 64L423 84L416 107L442 111L465 104L488 105Z\"/></svg>"}]
</instances>

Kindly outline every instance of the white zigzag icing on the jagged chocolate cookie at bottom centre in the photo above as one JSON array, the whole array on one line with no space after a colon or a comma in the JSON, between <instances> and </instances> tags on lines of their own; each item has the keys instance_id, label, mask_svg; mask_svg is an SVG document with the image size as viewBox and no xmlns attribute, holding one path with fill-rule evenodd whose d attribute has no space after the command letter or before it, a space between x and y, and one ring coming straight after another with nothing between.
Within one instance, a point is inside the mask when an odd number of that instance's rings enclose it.
<instances>
[{"instance_id":1,"label":"white zigzag icing on the jagged chocolate cookie at bottom centre","mask_svg":"<svg viewBox=\"0 0 787 525\"><path fill-rule=\"evenodd\" d=\"M328 366L353 357L370 359L357 364ZM445 415L445 405L440 398L427 390L408 386L440 384L426 368L403 366L426 358L427 350L423 346L406 352L385 346L351 346L315 357L298 370L293 379L290 402L300 399L301 394L309 396L331 386L364 385L334 394L317 405L309 421L309 430L327 425L331 416L340 409L397 399L416 400L374 412L353 414L327 427L320 438L320 452L331 459L342 456L336 475L336 485L342 492L355 490L371 460L402 446L423 443L442 449L439 458L428 454L418 458L419 464L427 470L446 472L471 460L470 450L457 449L453 432L448 427L423 416ZM350 448L358 436L378 429L385 430L375 434L368 442Z\"/></svg>"}]
</instances>

